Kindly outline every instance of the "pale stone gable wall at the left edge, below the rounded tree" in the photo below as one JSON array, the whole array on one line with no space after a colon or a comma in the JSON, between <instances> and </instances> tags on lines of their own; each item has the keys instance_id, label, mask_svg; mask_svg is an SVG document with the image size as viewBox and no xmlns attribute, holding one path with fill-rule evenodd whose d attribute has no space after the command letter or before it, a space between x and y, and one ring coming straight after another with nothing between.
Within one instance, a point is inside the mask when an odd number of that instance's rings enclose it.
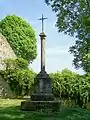
<instances>
[{"instance_id":1,"label":"pale stone gable wall at the left edge, below the rounded tree","mask_svg":"<svg viewBox=\"0 0 90 120\"><path fill-rule=\"evenodd\" d=\"M0 70L5 69L4 59L15 58L16 55L7 42L6 38L0 33Z\"/></svg>"}]
</instances>

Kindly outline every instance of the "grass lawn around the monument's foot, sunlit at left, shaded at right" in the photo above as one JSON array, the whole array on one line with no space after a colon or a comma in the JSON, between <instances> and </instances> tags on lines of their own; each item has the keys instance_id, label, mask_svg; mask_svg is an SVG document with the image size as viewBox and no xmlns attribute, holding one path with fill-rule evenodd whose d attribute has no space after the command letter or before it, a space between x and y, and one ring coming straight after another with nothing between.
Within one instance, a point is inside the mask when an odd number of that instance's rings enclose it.
<instances>
[{"instance_id":1,"label":"grass lawn around the monument's foot, sunlit at left, shaded at right","mask_svg":"<svg viewBox=\"0 0 90 120\"><path fill-rule=\"evenodd\" d=\"M90 110L61 108L60 112L24 112L20 100L0 100L0 120L90 120Z\"/></svg>"}]
</instances>

